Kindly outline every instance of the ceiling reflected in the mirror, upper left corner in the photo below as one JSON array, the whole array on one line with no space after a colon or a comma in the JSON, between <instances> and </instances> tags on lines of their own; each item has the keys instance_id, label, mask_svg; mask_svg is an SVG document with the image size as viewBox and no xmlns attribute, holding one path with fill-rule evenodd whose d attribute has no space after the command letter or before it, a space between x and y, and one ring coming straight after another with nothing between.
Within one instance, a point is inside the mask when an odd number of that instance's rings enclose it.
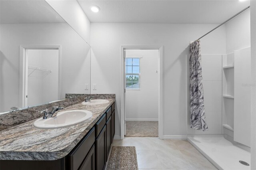
<instances>
[{"instance_id":1,"label":"ceiling reflected in the mirror, upper left corner","mask_svg":"<svg viewBox=\"0 0 256 170\"><path fill-rule=\"evenodd\" d=\"M59 22L65 20L45 0L0 0L1 24Z\"/></svg>"}]
</instances>

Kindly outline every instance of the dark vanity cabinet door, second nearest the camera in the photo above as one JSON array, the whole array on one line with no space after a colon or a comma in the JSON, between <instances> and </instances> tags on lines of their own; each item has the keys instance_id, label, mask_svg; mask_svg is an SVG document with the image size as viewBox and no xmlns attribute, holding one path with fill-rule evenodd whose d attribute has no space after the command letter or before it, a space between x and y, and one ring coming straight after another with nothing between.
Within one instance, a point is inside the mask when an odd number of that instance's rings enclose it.
<instances>
[{"instance_id":1,"label":"dark vanity cabinet door, second nearest the camera","mask_svg":"<svg viewBox=\"0 0 256 170\"><path fill-rule=\"evenodd\" d=\"M96 170L103 170L106 165L106 125L96 139Z\"/></svg>"}]
</instances>

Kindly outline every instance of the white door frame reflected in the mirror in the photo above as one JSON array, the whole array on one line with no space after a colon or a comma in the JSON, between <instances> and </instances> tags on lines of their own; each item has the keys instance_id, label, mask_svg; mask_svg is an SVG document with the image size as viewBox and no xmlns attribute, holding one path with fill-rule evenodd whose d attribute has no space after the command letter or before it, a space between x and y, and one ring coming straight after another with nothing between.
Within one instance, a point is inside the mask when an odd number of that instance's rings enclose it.
<instances>
[{"instance_id":1,"label":"white door frame reflected in the mirror","mask_svg":"<svg viewBox=\"0 0 256 170\"><path fill-rule=\"evenodd\" d=\"M27 87L26 84L27 79L26 76L28 73L28 70L26 68L26 65L28 64L28 58L27 58L27 49L58 49L58 99L60 99L60 92L61 92L61 45L20 45L20 93L19 93L19 105L22 106L22 108L27 105L27 100L25 99L25 95L27 93Z\"/></svg>"}]
</instances>

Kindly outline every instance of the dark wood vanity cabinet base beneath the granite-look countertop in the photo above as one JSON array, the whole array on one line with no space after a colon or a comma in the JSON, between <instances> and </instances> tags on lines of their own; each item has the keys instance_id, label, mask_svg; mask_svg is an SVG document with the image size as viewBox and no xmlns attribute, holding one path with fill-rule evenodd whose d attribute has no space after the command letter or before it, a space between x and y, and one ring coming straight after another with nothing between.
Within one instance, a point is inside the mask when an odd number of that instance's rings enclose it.
<instances>
[{"instance_id":1,"label":"dark wood vanity cabinet base beneath the granite-look countertop","mask_svg":"<svg viewBox=\"0 0 256 170\"><path fill-rule=\"evenodd\" d=\"M0 170L104 170L115 135L115 104L58 160L0 160Z\"/></svg>"}]
</instances>

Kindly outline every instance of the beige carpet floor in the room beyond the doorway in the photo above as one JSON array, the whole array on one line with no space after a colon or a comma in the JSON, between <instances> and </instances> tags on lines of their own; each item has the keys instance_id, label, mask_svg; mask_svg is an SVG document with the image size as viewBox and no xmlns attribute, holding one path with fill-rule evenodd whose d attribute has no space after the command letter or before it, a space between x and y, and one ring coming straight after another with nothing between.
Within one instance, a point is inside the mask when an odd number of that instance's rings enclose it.
<instances>
[{"instance_id":1,"label":"beige carpet floor in the room beyond the doorway","mask_svg":"<svg viewBox=\"0 0 256 170\"><path fill-rule=\"evenodd\" d=\"M125 137L158 137L158 122L126 121Z\"/></svg>"}]
</instances>

